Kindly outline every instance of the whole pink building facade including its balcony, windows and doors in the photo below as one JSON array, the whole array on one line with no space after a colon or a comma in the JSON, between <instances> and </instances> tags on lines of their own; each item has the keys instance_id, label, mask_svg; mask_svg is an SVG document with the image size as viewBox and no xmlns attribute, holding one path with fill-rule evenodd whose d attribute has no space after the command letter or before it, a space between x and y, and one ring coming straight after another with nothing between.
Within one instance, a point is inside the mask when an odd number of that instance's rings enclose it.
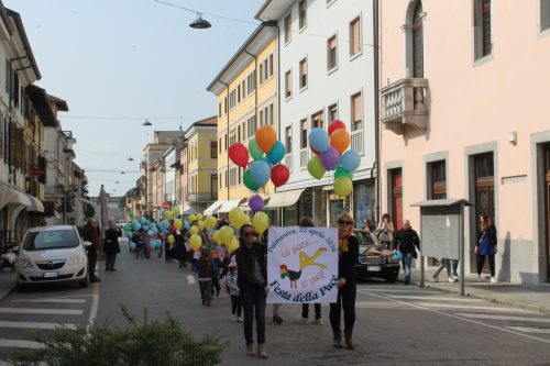
<instances>
[{"instance_id":1,"label":"whole pink building facade including its balcony, windows and doors","mask_svg":"<svg viewBox=\"0 0 550 366\"><path fill-rule=\"evenodd\" d=\"M549 1L380 7L382 211L397 229L405 218L418 228L413 203L466 199L465 270L476 270L485 213L497 229L498 279L548 282Z\"/></svg>"}]
</instances>

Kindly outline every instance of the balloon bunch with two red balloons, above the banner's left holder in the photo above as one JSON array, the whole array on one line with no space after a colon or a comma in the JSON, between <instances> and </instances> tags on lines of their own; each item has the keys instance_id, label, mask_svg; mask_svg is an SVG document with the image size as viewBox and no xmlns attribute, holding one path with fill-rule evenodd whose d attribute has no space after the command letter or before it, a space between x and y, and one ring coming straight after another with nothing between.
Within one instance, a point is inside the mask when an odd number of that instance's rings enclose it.
<instances>
[{"instance_id":1,"label":"balloon bunch with two red balloons, above the banner's left holder","mask_svg":"<svg viewBox=\"0 0 550 366\"><path fill-rule=\"evenodd\" d=\"M277 141L277 133L271 125L261 126L256 131L255 138L249 142L248 148L241 143L234 143L229 147L229 158L242 168L249 165L249 154L254 162L244 170L243 182L246 188L257 192L270 179L275 187L288 181L290 171L286 165L280 164L285 157L285 145ZM263 198L257 193L250 197L249 207L253 211L263 210Z\"/></svg>"}]
</instances>

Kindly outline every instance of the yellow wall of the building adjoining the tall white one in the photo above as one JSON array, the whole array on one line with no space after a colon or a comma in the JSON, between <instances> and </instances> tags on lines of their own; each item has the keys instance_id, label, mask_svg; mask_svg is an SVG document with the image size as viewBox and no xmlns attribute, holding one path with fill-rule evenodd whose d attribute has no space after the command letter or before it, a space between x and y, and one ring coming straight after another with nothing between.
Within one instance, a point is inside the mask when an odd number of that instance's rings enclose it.
<instances>
[{"instance_id":1,"label":"yellow wall of the building adjoining the tall white one","mask_svg":"<svg viewBox=\"0 0 550 366\"><path fill-rule=\"evenodd\" d=\"M266 80L263 80L260 84L260 65L264 63L265 59L270 59L270 55L273 55L273 73L268 76ZM248 76L256 70L256 82L255 82L255 91L249 95L248 90ZM263 71L262 67L262 71ZM235 166L229 159L228 149L232 144L232 140L230 136L235 134L234 142L240 142L244 146L248 147L249 141L254 137L254 134L249 136L248 124L249 119L255 117L256 130L260 125L260 111L267 107L270 110L270 106L273 104L273 127L276 130L277 125L277 56L276 56L276 41L273 40L268 43L264 49L257 55L256 60L251 59L251 62L244 67L244 69L229 82L229 88L226 88L223 92L221 92L218 97L218 106L217 112L220 111L219 106L221 103L221 114L218 118L218 199L227 200L227 199L237 199L237 198L246 198L251 196L251 190L244 186L243 182L243 168ZM237 102L234 108L230 109L229 92L237 89L239 90L239 86L242 86L244 81L244 86L246 91L244 93L244 98L241 99L240 102ZM257 95L257 96L256 96ZM228 113L224 109L224 101L228 98ZM257 111L255 109L257 98ZM265 121L265 118L264 118ZM243 127L245 130L244 138L243 138ZM240 135L237 136L237 134ZM221 151L220 151L220 142L221 142ZM252 162L252 157L250 158ZM230 170L237 169L235 174L235 184L231 185L230 179ZM227 177L227 178L226 178ZM221 182L221 185L220 185ZM229 184L229 185L228 185ZM275 192L275 188L271 180L264 188L261 188L260 193L267 198L270 195Z\"/></svg>"}]
</instances>

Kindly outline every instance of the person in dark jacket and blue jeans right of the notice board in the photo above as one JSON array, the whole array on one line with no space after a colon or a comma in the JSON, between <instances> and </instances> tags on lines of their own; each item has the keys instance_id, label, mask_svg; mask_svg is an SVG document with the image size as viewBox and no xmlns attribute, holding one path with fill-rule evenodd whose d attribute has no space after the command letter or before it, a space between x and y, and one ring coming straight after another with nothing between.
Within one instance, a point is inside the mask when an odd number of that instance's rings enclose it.
<instances>
[{"instance_id":1,"label":"person in dark jacket and blue jeans right of the notice board","mask_svg":"<svg viewBox=\"0 0 550 366\"><path fill-rule=\"evenodd\" d=\"M488 257L491 269L491 284L497 284L495 278L495 254L496 254L496 228L491 222L487 214L480 217L480 229L477 231L477 243L475 244L475 255L477 259L477 281L481 281L481 273L485 264L485 257Z\"/></svg>"}]
</instances>

